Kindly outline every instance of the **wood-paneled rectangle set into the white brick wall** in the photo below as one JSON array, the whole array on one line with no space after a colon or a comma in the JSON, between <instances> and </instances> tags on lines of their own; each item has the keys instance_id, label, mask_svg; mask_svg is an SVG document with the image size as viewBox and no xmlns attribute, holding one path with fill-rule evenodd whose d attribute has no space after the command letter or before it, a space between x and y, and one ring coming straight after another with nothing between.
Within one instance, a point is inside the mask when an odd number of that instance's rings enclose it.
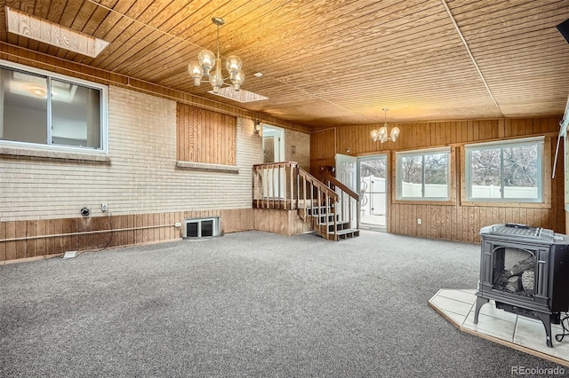
<instances>
[{"instance_id":1,"label":"wood-paneled rectangle set into the white brick wall","mask_svg":"<svg viewBox=\"0 0 569 378\"><path fill-rule=\"evenodd\" d=\"M176 105L176 159L236 164L236 117Z\"/></svg>"}]
</instances>

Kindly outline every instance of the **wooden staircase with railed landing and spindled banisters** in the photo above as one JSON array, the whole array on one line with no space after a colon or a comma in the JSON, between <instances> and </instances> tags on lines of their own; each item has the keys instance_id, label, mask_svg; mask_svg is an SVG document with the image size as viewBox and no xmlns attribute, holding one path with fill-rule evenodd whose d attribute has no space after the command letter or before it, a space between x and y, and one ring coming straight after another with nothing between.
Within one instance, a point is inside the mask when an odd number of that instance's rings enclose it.
<instances>
[{"instance_id":1,"label":"wooden staircase with railed landing and spindled banisters","mask_svg":"<svg viewBox=\"0 0 569 378\"><path fill-rule=\"evenodd\" d=\"M252 169L253 208L297 210L326 240L359 236L359 196L327 172L323 181L296 161L257 164Z\"/></svg>"}]
</instances>

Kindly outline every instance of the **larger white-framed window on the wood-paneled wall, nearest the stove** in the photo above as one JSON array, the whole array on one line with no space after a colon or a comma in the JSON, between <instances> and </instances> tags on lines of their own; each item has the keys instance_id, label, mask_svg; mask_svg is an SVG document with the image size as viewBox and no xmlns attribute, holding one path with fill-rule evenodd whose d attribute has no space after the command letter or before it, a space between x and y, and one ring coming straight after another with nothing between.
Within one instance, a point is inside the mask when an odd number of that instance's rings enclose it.
<instances>
[{"instance_id":1,"label":"larger white-framed window on the wood-paneled wall, nearest the stove","mask_svg":"<svg viewBox=\"0 0 569 378\"><path fill-rule=\"evenodd\" d=\"M543 138L466 146L469 201L542 201Z\"/></svg>"}]
</instances>

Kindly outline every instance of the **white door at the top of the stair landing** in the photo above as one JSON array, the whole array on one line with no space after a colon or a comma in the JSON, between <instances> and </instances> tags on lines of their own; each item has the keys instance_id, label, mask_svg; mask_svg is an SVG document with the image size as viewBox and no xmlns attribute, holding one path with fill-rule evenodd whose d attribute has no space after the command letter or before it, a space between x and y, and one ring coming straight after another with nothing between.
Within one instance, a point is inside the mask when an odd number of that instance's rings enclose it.
<instances>
[{"instance_id":1,"label":"white door at the top of the stair landing","mask_svg":"<svg viewBox=\"0 0 569 378\"><path fill-rule=\"evenodd\" d=\"M263 162L284 161L284 129L262 125ZM268 198L284 198L284 169L269 169L268 185L264 185L263 195ZM280 178L280 180L279 180ZM280 183L280 185L279 185Z\"/></svg>"}]
</instances>

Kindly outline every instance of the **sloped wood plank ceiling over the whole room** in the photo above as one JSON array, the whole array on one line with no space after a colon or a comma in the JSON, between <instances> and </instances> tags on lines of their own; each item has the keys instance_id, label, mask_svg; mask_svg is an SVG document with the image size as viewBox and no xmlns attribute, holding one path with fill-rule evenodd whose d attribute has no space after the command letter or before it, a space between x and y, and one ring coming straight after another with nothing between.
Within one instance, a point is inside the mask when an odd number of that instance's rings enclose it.
<instances>
[{"instance_id":1,"label":"sloped wood plank ceiling over the whole room","mask_svg":"<svg viewBox=\"0 0 569 378\"><path fill-rule=\"evenodd\" d=\"M4 0L110 43L97 58L6 31L17 46L311 127L561 115L569 0ZM193 85L204 48L244 62L237 103ZM262 77L253 76L260 72Z\"/></svg>"}]
</instances>

